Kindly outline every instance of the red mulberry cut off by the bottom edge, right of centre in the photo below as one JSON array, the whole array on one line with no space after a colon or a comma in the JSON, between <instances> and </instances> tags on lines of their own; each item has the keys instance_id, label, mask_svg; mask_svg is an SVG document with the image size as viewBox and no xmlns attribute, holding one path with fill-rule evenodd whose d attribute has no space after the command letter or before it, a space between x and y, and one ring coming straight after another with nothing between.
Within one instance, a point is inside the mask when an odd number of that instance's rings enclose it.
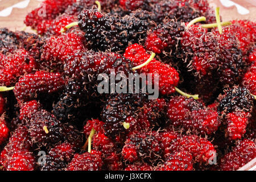
<instances>
[{"instance_id":1,"label":"red mulberry cut off by the bottom edge, right of centre","mask_svg":"<svg viewBox=\"0 0 256 182\"><path fill-rule=\"evenodd\" d=\"M157 168L158 171L192 171L192 155L187 151L174 152L168 155L165 163Z\"/></svg>"}]
</instances>

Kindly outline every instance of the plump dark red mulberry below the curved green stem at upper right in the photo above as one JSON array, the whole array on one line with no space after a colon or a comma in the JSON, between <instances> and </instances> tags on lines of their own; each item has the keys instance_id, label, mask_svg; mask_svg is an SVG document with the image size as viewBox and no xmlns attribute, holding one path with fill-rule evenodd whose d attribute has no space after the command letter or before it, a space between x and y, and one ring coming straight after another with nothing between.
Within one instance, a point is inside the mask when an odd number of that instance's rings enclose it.
<instances>
[{"instance_id":1,"label":"plump dark red mulberry below the curved green stem at upper right","mask_svg":"<svg viewBox=\"0 0 256 182\"><path fill-rule=\"evenodd\" d=\"M191 26L184 32L181 47L185 52L185 63L196 75L207 75L220 64L220 46L216 36L205 32L200 26Z\"/></svg>"}]
</instances>

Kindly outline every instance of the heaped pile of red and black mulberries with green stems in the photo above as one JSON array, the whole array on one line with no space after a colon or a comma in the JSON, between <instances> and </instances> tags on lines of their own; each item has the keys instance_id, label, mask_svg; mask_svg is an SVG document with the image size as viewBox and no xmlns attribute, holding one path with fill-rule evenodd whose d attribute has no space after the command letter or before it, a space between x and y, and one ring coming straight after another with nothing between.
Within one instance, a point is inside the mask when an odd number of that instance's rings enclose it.
<instances>
[{"instance_id":1,"label":"heaped pile of red and black mulberries with green stems","mask_svg":"<svg viewBox=\"0 0 256 182\"><path fill-rule=\"evenodd\" d=\"M256 157L256 23L215 11L45 0L24 19L34 33L0 28L0 171L243 169Z\"/></svg>"}]
</instances>

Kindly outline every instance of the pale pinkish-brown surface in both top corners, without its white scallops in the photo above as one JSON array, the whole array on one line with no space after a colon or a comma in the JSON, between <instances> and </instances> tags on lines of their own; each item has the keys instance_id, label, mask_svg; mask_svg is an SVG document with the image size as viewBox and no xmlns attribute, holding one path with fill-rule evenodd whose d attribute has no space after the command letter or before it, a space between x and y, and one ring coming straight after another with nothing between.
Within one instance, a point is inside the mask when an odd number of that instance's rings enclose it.
<instances>
[{"instance_id":1,"label":"pale pinkish-brown surface in both top corners, without its white scallops","mask_svg":"<svg viewBox=\"0 0 256 182\"><path fill-rule=\"evenodd\" d=\"M15 3L22 2L24 0L0 0L0 11L6 9L14 5ZM93 0L92 0L93 1ZM234 2L246 7L246 9L250 10L250 14L247 15L240 15L237 13L237 9L235 6L226 8L222 6L220 1L218 0L209 0L210 5L220 7L220 14L224 21L232 20L232 19L250 19L256 21L256 6L251 5L247 1L254 1L255 0L233 0ZM23 19L25 18L26 14L29 13L31 10L35 9L39 6L42 0L30 0L30 3L25 9L17 9L14 8L11 12L11 15L7 17L0 16L0 27L8 27L11 30L22 30L24 27ZM31 31L30 28L27 31Z\"/></svg>"}]
</instances>

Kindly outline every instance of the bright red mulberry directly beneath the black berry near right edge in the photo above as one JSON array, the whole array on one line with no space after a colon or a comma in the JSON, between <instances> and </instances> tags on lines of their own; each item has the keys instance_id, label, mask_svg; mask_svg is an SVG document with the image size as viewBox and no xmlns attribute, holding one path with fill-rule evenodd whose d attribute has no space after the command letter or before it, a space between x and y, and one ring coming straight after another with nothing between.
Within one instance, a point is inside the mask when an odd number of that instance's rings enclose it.
<instances>
[{"instance_id":1,"label":"bright red mulberry directly beneath the black berry near right edge","mask_svg":"<svg viewBox=\"0 0 256 182\"><path fill-rule=\"evenodd\" d=\"M246 126L248 123L249 113L236 112L226 115L226 122L228 127L226 133L232 140L241 139L246 133Z\"/></svg>"}]
</instances>

